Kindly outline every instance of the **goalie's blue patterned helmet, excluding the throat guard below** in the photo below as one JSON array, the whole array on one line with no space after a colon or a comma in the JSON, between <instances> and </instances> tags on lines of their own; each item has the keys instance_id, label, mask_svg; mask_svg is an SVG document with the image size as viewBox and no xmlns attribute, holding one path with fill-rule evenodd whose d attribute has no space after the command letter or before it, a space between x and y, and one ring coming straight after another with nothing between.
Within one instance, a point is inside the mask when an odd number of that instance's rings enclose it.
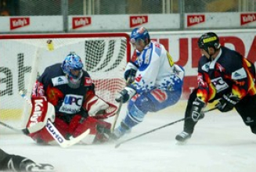
<instances>
[{"instance_id":1,"label":"goalie's blue patterned helmet, excluding the throat guard below","mask_svg":"<svg viewBox=\"0 0 256 172\"><path fill-rule=\"evenodd\" d=\"M81 57L76 55L75 52L70 52L69 55L67 55L62 63L62 69L63 72L68 75L68 77L72 77L74 79L80 79L81 78L81 70L83 68L83 63L81 62ZM80 73L78 76L75 76L71 73L70 70L80 70Z\"/></svg>"}]
</instances>

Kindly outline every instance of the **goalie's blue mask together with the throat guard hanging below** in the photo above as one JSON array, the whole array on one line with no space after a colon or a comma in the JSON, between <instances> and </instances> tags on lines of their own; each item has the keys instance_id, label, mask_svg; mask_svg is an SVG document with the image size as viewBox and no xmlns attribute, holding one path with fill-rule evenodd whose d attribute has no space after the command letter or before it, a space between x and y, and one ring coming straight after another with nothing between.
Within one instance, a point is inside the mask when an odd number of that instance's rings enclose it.
<instances>
[{"instance_id":1,"label":"goalie's blue mask together with the throat guard hanging below","mask_svg":"<svg viewBox=\"0 0 256 172\"><path fill-rule=\"evenodd\" d=\"M80 56L76 55L74 52L70 52L64 59L61 67L67 76L70 88L79 88L83 75L83 66Z\"/></svg>"}]
</instances>

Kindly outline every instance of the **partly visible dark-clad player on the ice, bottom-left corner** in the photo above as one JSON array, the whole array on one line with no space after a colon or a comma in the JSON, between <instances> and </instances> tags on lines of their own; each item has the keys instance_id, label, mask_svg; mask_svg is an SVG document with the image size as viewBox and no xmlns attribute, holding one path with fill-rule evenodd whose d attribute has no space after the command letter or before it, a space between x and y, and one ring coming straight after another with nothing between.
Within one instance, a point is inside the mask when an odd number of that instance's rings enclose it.
<instances>
[{"instance_id":1,"label":"partly visible dark-clad player on the ice, bottom-left corner","mask_svg":"<svg viewBox=\"0 0 256 172\"><path fill-rule=\"evenodd\" d=\"M34 163L31 159L16 156L0 149L0 171L53 171L54 167L48 163Z\"/></svg>"}]
</instances>

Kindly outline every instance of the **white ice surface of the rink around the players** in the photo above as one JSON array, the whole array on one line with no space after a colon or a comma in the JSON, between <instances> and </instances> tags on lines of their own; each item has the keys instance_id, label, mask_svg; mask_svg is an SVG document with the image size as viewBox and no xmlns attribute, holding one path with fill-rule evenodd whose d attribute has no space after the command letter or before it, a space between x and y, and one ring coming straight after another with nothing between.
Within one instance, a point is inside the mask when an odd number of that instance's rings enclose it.
<instances>
[{"instance_id":1,"label":"white ice surface of the rink around the players","mask_svg":"<svg viewBox=\"0 0 256 172\"><path fill-rule=\"evenodd\" d=\"M156 127L183 118L186 106L172 106L149 113L134 127L132 138ZM125 107L117 124L124 117ZM256 135L243 124L236 111L205 114L186 145L177 145L175 135L183 122L126 142L74 145L67 149L36 145L22 134L2 134L0 147L6 152L27 156L38 163L51 163L59 172L240 172L254 171ZM0 128L1 129L1 128Z\"/></svg>"}]
</instances>

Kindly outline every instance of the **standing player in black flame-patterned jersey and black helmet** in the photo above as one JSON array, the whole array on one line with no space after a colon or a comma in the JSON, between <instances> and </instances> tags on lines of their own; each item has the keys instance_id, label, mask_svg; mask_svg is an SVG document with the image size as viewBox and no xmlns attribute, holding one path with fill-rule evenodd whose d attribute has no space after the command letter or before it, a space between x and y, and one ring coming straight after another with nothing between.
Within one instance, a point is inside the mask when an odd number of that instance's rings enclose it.
<instances>
[{"instance_id":1,"label":"standing player in black flame-patterned jersey and black helmet","mask_svg":"<svg viewBox=\"0 0 256 172\"><path fill-rule=\"evenodd\" d=\"M218 100L216 106L225 113L233 108L244 124L256 134L255 67L240 53L220 45L217 34L209 32L198 40L201 54L198 63L198 88L189 95L184 128L176 136L178 142L191 138L197 121L208 103Z\"/></svg>"}]
</instances>

